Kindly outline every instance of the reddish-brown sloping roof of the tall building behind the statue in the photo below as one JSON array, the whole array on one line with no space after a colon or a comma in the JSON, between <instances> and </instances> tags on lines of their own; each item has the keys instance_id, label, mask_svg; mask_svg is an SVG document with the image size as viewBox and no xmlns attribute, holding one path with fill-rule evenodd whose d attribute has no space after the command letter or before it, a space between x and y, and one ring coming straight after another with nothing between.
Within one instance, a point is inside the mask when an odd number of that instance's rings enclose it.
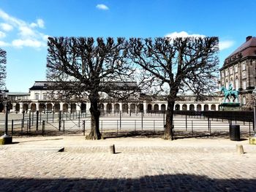
<instances>
[{"instance_id":1,"label":"reddish-brown sloping roof of the tall building behind the statue","mask_svg":"<svg viewBox=\"0 0 256 192\"><path fill-rule=\"evenodd\" d=\"M222 69L247 57L256 58L256 37L246 37L246 42L225 59Z\"/></svg>"}]
</instances>

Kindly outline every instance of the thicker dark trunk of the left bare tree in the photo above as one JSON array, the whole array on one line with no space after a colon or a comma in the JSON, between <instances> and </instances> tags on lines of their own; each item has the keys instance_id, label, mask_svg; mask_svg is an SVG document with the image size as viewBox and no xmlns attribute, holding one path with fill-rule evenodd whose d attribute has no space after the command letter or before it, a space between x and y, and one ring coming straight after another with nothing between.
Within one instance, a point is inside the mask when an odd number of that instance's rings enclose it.
<instances>
[{"instance_id":1,"label":"thicker dark trunk of the left bare tree","mask_svg":"<svg viewBox=\"0 0 256 192\"><path fill-rule=\"evenodd\" d=\"M90 99L91 101L91 107L90 107L90 113L91 113L91 132L88 136L86 136L86 139L102 139L102 134L99 131L99 109L98 109L98 101L95 97L92 96Z\"/></svg>"}]
</instances>

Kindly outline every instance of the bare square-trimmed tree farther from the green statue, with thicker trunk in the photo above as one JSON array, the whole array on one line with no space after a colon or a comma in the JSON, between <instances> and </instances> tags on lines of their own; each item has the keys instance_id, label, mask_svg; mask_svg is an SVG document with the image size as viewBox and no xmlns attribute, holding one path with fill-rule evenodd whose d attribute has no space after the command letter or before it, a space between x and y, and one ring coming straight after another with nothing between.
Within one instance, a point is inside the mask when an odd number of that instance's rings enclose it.
<instances>
[{"instance_id":1,"label":"bare square-trimmed tree farther from the green statue, with thicker trunk","mask_svg":"<svg viewBox=\"0 0 256 192\"><path fill-rule=\"evenodd\" d=\"M127 96L129 85L117 85L129 79L132 69L126 63L127 41L124 38L64 38L48 39L47 77L53 80L53 88L61 90L61 97L84 99L91 102L91 132L87 139L101 139L99 132L99 94ZM116 90L116 93L112 93Z\"/></svg>"}]
</instances>

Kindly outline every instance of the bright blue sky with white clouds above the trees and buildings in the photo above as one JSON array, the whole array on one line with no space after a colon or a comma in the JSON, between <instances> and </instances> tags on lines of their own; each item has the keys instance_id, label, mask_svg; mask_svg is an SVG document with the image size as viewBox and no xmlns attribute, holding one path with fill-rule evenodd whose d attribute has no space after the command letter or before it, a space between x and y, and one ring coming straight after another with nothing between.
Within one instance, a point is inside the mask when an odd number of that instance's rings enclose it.
<instances>
[{"instance_id":1,"label":"bright blue sky with white clouds above the trees and buildings","mask_svg":"<svg viewBox=\"0 0 256 192\"><path fill-rule=\"evenodd\" d=\"M28 92L45 80L48 36L214 36L222 66L247 36L256 36L255 7L255 0L0 0L7 89Z\"/></svg>"}]
</instances>

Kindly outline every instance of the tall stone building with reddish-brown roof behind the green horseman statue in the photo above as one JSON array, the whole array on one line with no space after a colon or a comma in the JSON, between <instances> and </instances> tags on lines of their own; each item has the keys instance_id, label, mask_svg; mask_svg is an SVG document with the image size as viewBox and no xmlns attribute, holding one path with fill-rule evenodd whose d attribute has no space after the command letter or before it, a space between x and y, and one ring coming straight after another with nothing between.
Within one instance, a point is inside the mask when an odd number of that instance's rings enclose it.
<instances>
[{"instance_id":1,"label":"tall stone building with reddish-brown roof behind the green horseman statue","mask_svg":"<svg viewBox=\"0 0 256 192\"><path fill-rule=\"evenodd\" d=\"M220 71L220 85L228 88L229 83L239 93L239 102L244 110L253 105L252 91L256 85L256 37L246 37L240 47L224 61Z\"/></svg>"}]
</instances>

